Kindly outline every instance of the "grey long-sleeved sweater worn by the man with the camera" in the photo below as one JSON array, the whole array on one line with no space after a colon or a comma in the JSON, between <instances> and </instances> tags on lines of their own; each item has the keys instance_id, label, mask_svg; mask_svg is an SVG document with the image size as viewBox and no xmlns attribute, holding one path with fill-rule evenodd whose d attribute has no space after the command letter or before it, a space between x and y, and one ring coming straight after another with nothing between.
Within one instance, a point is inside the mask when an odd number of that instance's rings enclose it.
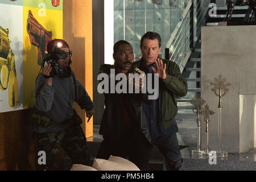
<instances>
[{"instance_id":1,"label":"grey long-sleeved sweater worn by the man with the camera","mask_svg":"<svg viewBox=\"0 0 256 182\"><path fill-rule=\"evenodd\" d=\"M74 101L79 104L81 109L94 109L92 100L84 86L76 79L73 71L71 77L68 78L53 77L52 86L46 84L46 78L40 73L36 80L35 92L35 108L58 123L48 127L36 126L35 131L38 133L57 132L65 129L67 122L64 121L72 118Z\"/></svg>"}]
</instances>

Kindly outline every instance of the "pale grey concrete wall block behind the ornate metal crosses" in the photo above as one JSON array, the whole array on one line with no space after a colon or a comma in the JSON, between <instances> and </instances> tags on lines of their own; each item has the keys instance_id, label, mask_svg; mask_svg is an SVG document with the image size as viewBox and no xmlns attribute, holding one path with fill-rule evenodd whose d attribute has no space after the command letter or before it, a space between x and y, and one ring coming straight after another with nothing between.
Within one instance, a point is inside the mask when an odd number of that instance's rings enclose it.
<instances>
[{"instance_id":1,"label":"pale grey concrete wall block behind the ornate metal crosses","mask_svg":"<svg viewBox=\"0 0 256 182\"><path fill-rule=\"evenodd\" d=\"M222 149L239 153L242 142L248 142L243 123L240 125L240 95L256 95L256 26L202 27L201 34L201 97L215 114L209 123L209 146L218 148L218 97L210 90L214 77L222 75L230 84L229 92L222 98ZM246 108L253 107L252 104ZM252 109L252 108L251 108ZM247 113L248 114L248 113ZM247 121L248 119L248 121ZM205 122L202 122L202 144L205 145ZM251 138L249 139L251 140Z\"/></svg>"}]
</instances>

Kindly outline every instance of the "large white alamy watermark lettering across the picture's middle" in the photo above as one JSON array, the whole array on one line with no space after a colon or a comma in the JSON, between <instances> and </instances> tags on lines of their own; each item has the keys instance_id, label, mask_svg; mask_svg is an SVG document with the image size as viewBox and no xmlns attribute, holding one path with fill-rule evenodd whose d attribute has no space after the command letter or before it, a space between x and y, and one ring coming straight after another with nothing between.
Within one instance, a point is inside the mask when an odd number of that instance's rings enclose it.
<instances>
[{"instance_id":1,"label":"large white alamy watermark lettering across the picture's middle","mask_svg":"<svg viewBox=\"0 0 256 182\"><path fill-rule=\"evenodd\" d=\"M115 69L110 69L110 77L106 73L100 73L97 80L101 81L97 87L98 93L148 93L149 100L156 100L159 96L158 73L129 73L127 79L124 73L115 75ZM118 83L115 84L115 81Z\"/></svg>"}]
</instances>

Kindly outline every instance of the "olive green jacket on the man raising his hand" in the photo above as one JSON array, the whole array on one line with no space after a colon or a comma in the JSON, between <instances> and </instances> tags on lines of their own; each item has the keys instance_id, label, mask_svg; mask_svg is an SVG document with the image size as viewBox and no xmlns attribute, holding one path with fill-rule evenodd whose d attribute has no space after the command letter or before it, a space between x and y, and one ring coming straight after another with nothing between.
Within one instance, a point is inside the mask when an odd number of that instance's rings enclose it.
<instances>
[{"instance_id":1,"label":"olive green jacket on the man raising his hand","mask_svg":"<svg viewBox=\"0 0 256 182\"><path fill-rule=\"evenodd\" d=\"M139 68L147 73L147 68L143 64L143 57L139 61L133 62L134 68ZM188 92L187 80L181 76L179 66L174 61L162 59L166 64L166 79L159 79L159 117L163 129L167 129L175 122L177 114L177 103L174 95L184 97Z\"/></svg>"}]
</instances>

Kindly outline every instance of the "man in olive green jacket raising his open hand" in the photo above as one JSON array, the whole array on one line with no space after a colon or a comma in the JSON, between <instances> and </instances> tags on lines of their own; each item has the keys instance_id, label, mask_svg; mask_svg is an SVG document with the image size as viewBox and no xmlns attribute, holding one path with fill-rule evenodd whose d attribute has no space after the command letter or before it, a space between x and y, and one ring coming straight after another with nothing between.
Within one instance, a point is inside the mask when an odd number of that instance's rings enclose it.
<instances>
[{"instance_id":1,"label":"man in olive green jacket raising his open hand","mask_svg":"<svg viewBox=\"0 0 256 182\"><path fill-rule=\"evenodd\" d=\"M145 73L158 74L159 97L150 105L143 104L146 114L147 129L150 131L151 144L162 153L168 170L184 170L176 133L178 132L175 115L177 104L174 95L183 97L187 94L188 85L176 63L159 59L161 38L156 32L146 32L141 38L142 59L133 63ZM154 84L153 84L154 85ZM151 148L148 148L151 150ZM148 151L148 162L150 158Z\"/></svg>"}]
</instances>

